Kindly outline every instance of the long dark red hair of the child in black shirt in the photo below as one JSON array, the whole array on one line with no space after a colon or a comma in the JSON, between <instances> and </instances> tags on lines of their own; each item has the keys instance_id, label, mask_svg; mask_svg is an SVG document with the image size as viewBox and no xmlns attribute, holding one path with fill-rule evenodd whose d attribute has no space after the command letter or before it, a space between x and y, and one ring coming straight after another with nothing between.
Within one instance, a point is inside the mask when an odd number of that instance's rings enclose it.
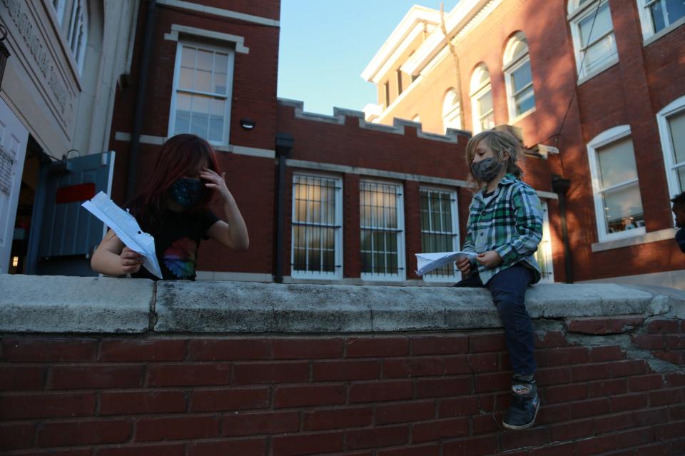
<instances>
[{"instance_id":1,"label":"long dark red hair of the child in black shirt","mask_svg":"<svg viewBox=\"0 0 685 456\"><path fill-rule=\"evenodd\" d=\"M171 185L183 176L197 171L202 163L221 174L221 167L214 148L203 138L181 134L172 136L162 145L151 175L147 177L145 190L128 205L133 215L148 230L156 226L159 213L166 208L166 197ZM190 211L206 208L214 196L213 190L204 188L199 203Z\"/></svg>"}]
</instances>

